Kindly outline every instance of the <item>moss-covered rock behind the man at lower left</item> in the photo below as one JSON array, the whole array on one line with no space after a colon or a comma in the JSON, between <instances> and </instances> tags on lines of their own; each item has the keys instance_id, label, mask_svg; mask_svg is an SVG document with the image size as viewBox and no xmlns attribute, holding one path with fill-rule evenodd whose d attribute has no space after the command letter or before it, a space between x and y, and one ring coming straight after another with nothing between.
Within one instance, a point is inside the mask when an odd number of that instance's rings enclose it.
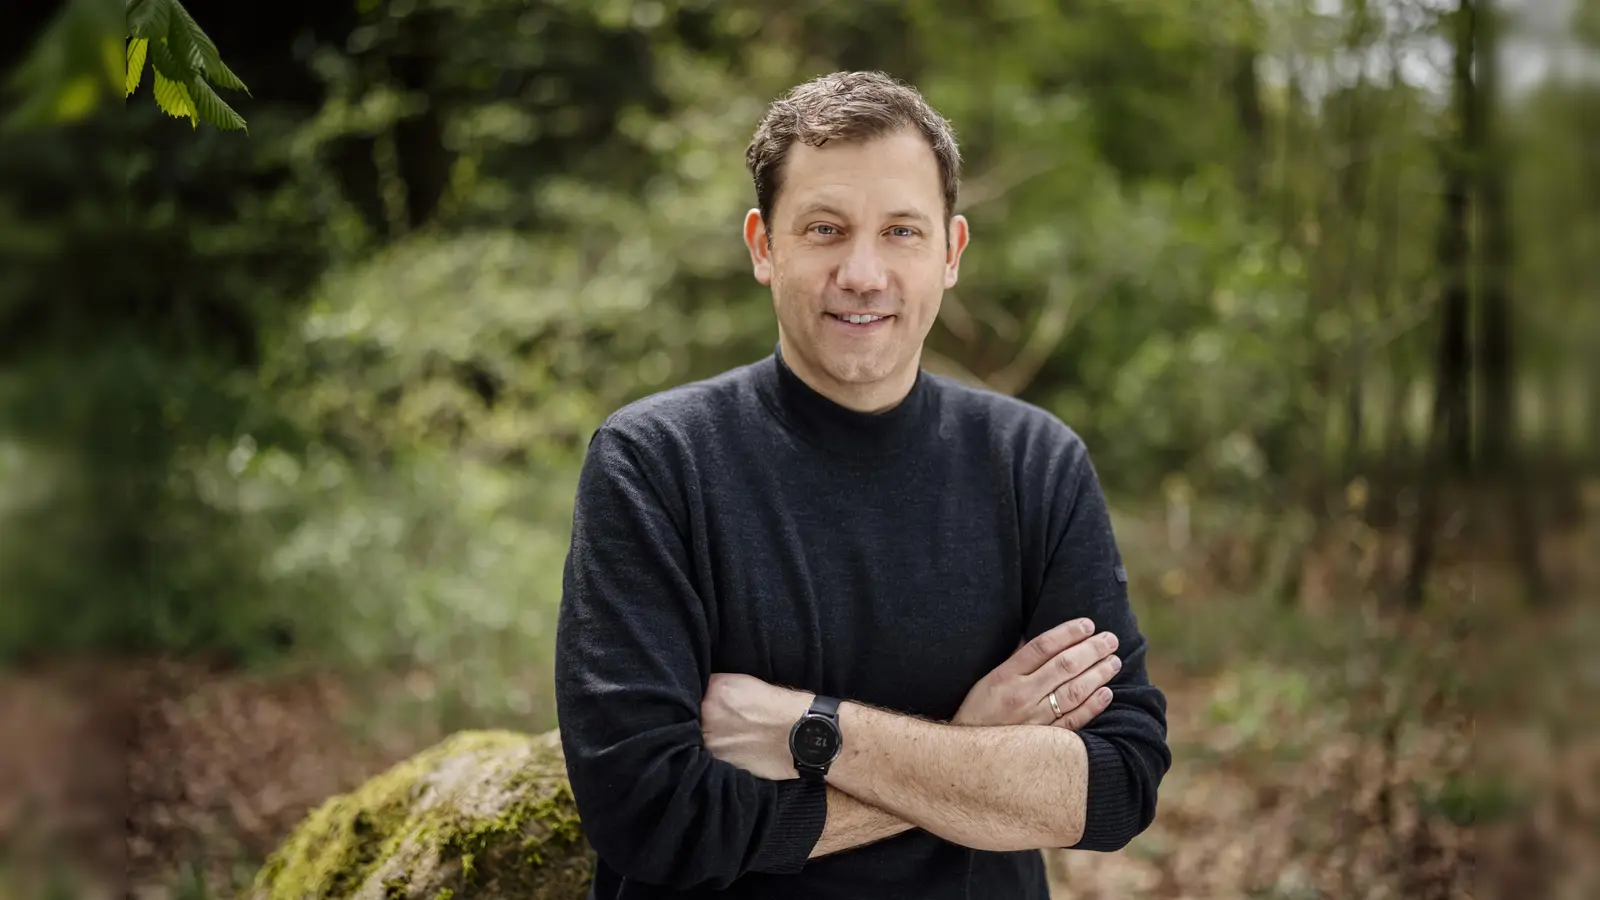
<instances>
[{"instance_id":1,"label":"moss-covered rock behind the man at lower left","mask_svg":"<svg viewBox=\"0 0 1600 900\"><path fill-rule=\"evenodd\" d=\"M461 732L288 836L250 900L582 900L594 852L557 732Z\"/></svg>"}]
</instances>

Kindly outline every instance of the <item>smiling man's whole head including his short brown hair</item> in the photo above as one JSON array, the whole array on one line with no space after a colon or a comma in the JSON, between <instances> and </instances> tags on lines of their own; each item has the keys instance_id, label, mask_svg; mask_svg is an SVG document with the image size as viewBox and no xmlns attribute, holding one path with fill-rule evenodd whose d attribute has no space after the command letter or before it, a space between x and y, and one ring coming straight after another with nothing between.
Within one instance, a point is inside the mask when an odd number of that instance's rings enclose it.
<instances>
[{"instance_id":1,"label":"smiling man's whole head including his short brown hair","mask_svg":"<svg viewBox=\"0 0 1600 900\"><path fill-rule=\"evenodd\" d=\"M950 125L888 75L837 72L774 101L746 163L784 360L843 405L898 404L968 240Z\"/></svg>"}]
</instances>

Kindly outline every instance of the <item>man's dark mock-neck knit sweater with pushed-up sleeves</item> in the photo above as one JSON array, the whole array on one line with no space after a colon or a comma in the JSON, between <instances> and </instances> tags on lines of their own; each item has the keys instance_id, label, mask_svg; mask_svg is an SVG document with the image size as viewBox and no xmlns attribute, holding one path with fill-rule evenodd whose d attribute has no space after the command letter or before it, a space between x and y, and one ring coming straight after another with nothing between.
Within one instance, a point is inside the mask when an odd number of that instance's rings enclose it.
<instances>
[{"instance_id":1,"label":"man's dark mock-neck knit sweater with pushed-up sleeves","mask_svg":"<svg viewBox=\"0 0 1600 900\"><path fill-rule=\"evenodd\" d=\"M949 719L1019 639L1077 617L1125 663L1080 732L1078 847L1155 817L1166 700L1083 442L1037 407L922 373L854 413L774 352L611 415L573 527L555 698L600 900L1045 900L1037 850L918 828L808 862L822 788L714 759L699 705L720 671Z\"/></svg>"}]
</instances>

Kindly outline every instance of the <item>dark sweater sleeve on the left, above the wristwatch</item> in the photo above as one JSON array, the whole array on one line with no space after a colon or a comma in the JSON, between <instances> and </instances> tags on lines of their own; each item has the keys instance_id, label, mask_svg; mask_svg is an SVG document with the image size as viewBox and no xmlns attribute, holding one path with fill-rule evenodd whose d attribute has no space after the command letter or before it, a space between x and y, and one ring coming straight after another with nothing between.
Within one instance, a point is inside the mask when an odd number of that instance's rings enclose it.
<instances>
[{"instance_id":1,"label":"dark sweater sleeve on the left, above the wristwatch","mask_svg":"<svg viewBox=\"0 0 1600 900\"><path fill-rule=\"evenodd\" d=\"M578 484L555 636L555 703L584 834L630 881L725 889L797 873L822 833L826 791L712 757L699 725L712 623L666 498L638 445L590 439Z\"/></svg>"}]
</instances>

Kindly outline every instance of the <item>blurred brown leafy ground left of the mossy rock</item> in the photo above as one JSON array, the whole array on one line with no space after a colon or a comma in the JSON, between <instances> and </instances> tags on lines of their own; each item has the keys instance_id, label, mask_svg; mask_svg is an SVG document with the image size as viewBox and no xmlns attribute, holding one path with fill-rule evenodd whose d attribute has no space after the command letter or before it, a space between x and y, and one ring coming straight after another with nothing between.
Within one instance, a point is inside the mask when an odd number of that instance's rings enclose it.
<instances>
[{"instance_id":1,"label":"blurred brown leafy ground left of the mossy rock","mask_svg":"<svg viewBox=\"0 0 1600 900\"><path fill-rule=\"evenodd\" d=\"M62 862L109 897L165 897L182 865L198 865L226 895L315 804L427 743L358 740L350 705L326 674L179 663L3 674L0 854Z\"/></svg>"}]
</instances>

